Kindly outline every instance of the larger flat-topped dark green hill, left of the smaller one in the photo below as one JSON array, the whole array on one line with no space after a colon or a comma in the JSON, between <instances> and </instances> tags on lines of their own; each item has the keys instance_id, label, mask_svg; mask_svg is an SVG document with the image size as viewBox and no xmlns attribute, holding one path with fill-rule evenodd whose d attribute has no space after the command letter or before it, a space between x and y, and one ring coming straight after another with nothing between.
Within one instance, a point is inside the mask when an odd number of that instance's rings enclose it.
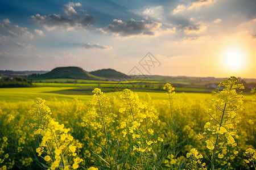
<instances>
[{"instance_id":1,"label":"larger flat-topped dark green hill, left of the smaller one","mask_svg":"<svg viewBox=\"0 0 256 170\"><path fill-rule=\"evenodd\" d=\"M71 79L102 79L100 77L94 76L87 71L81 69L80 67L57 67L52 71L29 76L30 80L42 80L42 79L57 79L57 78L71 78Z\"/></svg>"}]
</instances>

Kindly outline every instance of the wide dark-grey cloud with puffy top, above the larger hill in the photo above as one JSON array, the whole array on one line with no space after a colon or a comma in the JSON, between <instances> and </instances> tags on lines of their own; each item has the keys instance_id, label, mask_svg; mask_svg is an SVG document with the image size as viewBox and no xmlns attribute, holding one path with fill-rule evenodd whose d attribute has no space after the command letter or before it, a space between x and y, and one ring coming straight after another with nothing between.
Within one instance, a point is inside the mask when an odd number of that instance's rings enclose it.
<instances>
[{"instance_id":1,"label":"wide dark-grey cloud with puffy top, above the larger hill","mask_svg":"<svg viewBox=\"0 0 256 170\"><path fill-rule=\"evenodd\" d=\"M80 3L69 2L68 5L64 5L64 15L50 14L50 15L40 15L36 14L31 16L31 18L40 25L43 25L47 30L53 30L57 27L65 29L74 29L74 28L85 28L89 25L92 25L95 20L93 16L84 14L77 15L77 12L74 7L81 6ZM72 15L76 15L72 17Z\"/></svg>"}]
</instances>

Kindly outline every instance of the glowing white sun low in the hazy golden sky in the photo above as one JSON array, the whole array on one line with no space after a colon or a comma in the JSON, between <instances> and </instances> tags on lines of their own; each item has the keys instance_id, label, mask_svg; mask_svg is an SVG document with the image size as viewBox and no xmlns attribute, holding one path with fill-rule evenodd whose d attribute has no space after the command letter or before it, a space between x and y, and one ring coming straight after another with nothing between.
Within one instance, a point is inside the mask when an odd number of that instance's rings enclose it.
<instances>
[{"instance_id":1,"label":"glowing white sun low in the hazy golden sky","mask_svg":"<svg viewBox=\"0 0 256 170\"><path fill-rule=\"evenodd\" d=\"M223 65L228 70L241 70L245 67L246 54L242 49L230 48L222 56Z\"/></svg>"}]
</instances>

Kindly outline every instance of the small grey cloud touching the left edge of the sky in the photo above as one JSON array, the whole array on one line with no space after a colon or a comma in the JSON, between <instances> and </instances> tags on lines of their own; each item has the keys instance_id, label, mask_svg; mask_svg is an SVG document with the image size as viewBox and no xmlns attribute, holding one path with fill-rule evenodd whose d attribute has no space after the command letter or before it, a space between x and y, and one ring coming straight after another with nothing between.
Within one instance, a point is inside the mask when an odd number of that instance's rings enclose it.
<instances>
[{"instance_id":1,"label":"small grey cloud touching the left edge of the sky","mask_svg":"<svg viewBox=\"0 0 256 170\"><path fill-rule=\"evenodd\" d=\"M12 25L10 20L3 19L3 23L0 23L3 29L6 29L8 34L13 37L25 37L28 39L33 39L33 34L27 31L25 27L19 27L18 25Z\"/></svg>"}]
</instances>

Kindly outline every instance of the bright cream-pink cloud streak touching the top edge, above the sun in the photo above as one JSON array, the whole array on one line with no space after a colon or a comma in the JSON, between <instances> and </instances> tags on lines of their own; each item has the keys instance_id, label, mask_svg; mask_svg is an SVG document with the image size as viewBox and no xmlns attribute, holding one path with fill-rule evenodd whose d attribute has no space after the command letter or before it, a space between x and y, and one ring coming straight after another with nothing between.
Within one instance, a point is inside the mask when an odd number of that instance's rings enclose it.
<instances>
[{"instance_id":1,"label":"bright cream-pink cloud streak touching the top edge, above the sun","mask_svg":"<svg viewBox=\"0 0 256 170\"><path fill-rule=\"evenodd\" d=\"M205 6L205 5L210 5L214 2L216 2L217 0L199 0L199 1L196 1L196 2L193 2L190 6L186 7L185 5L178 5L173 11L172 11L172 14L177 14L177 13L180 13L180 12L183 12L185 10L199 10L202 6Z\"/></svg>"}]
</instances>

